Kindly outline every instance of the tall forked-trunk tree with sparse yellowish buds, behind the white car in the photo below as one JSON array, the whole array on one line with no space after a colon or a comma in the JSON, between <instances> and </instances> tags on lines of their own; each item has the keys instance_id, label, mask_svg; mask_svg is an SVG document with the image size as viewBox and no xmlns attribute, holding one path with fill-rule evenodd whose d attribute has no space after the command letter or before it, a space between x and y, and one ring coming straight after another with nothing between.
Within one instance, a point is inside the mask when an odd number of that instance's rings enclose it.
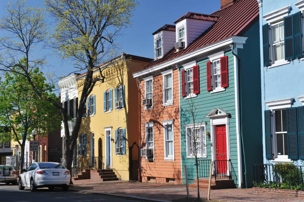
<instances>
[{"instance_id":1,"label":"tall forked-trunk tree with sparse yellowish buds, behind the white car","mask_svg":"<svg viewBox=\"0 0 304 202\"><path fill-rule=\"evenodd\" d=\"M69 116L56 100L45 96L35 86L30 75L31 69L39 67L44 60L31 57L35 44L45 40L46 25L40 9L25 5L25 1L8 4L7 13L0 28L9 33L9 37L0 40L4 50L0 57L0 70L12 71L26 77L32 89L41 99L49 101L60 110L65 130L65 152L63 164L72 170L73 150L76 145L81 117L85 112L87 96L96 81L103 82L104 76L100 64L105 57L117 52L116 37L122 29L131 24L131 17L137 5L136 0L45 0L45 7L54 17L56 28L51 44L64 59L75 61L76 71L86 70L79 99L79 109L75 125L70 133ZM18 57L26 57L26 64L18 63ZM19 67L18 70L12 67ZM93 78L93 69L98 68L100 77Z\"/></svg>"}]
</instances>

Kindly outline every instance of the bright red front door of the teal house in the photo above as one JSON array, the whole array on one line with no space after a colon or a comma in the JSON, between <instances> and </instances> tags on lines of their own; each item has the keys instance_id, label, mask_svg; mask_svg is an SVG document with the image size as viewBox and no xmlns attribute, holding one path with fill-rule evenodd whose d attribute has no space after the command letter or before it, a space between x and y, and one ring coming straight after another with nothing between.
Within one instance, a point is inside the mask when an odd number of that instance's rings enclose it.
<instances>
[{"instance_id":1,"label":"bright red front door of the teal house","mask_svg":"<svg viewBox=\"0 0 304 202\"><path fill-rule=\"evenodd\" d=\"M227 173L226 126L217 126L217 169L218 174Z\"/></svg>"}]
</instances>

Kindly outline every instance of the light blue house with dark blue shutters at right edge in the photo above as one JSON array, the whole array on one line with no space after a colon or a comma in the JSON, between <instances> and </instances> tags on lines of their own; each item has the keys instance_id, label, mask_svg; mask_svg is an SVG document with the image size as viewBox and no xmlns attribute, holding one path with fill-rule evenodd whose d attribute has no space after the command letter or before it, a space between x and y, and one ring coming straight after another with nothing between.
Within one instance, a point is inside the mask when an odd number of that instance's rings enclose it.
<instances>
[{"instance_id":1,"label":"light blue house with dark blue shutters at right edge","mask_svg":"<svg viewBox=\"0 0 304 202\"><path fill-rule=\"evenodd\" d=\"M264 164L304 165L304 0L258 0Z\"/></svg>"}]
</instances>

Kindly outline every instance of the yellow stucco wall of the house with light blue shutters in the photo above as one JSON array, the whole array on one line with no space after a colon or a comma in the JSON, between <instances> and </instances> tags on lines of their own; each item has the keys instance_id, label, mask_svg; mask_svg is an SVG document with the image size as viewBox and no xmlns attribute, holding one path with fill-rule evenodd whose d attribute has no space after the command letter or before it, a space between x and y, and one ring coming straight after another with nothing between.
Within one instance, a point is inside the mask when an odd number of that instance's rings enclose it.
<instances>
[{"instance_id":1,"label":"yellow stucco wall of the house with light blue shutters","mask_svg":"<svg viewBox=\"0 0 304 202\"><path fill-rule=\"evenodd\" d=\"M89 96L95 95L95 114L82 118L79 134L86 134L86 155L91 156L91 135L94 134L94 156L99 156L99 141L101 140L102 161L105 162L105 130L111 132L111 168L115 171L120 180L129 180L129 147L136 142L139 144L139 92L136 80L132 72L143 69L148 63L136 60L120 62L119 65L111 65L103 70L106 76L105 82L97 81ZM95 71L94 76L99 76ZM77 88L78 99L81 97L83 78L78 76ZM114 89L125 85L125 107L121 110L115 109ZM109 113L103 111L103 92L113 90L113 110ZM89 97L88 96L88 97ZM115 130L126 129L126 154L115 154ZM77 144L78 149L78 144ZM138 149L133 149L133 159L138 158ZM135 156L136 155L136 156Z\"/></svg>"}]
</instances>

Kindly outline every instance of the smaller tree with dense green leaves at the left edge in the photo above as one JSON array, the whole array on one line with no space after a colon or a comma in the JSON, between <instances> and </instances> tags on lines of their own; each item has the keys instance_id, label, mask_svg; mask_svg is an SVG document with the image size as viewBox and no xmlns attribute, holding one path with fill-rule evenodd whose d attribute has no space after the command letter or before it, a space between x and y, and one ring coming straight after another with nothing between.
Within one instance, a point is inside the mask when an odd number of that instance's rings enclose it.
<instances>
[{"instance_id":1,"label":"smaller tree with dense green leaves at the left edge","mask_svg":"<svg viewBox=\"0 0 304 202\"><path fill-rule=\"evenodd\" d=\"M24 63L25 60L21 62ZM18 67L12 69L17 71ZM44 92L44 96L60 102L52 93L55 86L45 84L45 77L38 68L34 68L30 76L36 88ZM1 141L13 139L21 147L21 170L24 164L25 141L31 138L32 131L36 129L37 135L47 135L57 130L61 125L61 116L54 105L36 94L23 75L6 72L4 80L0 81L0 125L10 129L9 132L0 134Z\"/></svg>"}]
</instances>

